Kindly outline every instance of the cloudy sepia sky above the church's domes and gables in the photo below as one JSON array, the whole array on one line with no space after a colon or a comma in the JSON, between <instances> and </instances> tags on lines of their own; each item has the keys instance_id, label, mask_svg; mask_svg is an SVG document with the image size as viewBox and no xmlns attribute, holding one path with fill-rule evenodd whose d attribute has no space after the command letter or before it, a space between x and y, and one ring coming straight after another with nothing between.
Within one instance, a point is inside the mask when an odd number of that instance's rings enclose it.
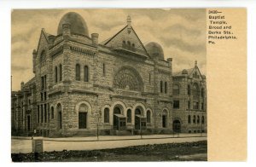
<instances>
[{"instance_id":1,"label":"cloudy sepia sky above the church's domes and gables","mask_svg":"<svg viewBox=\"0 0 256 167\"><path fill-rule=\"evenodd\" d=\"M37 49L42 28L56 35L61 17L67 12L80 14L89 34L99 33L99 42L131 26L142 43L160 43L165 59L172 57L173 72L192 68L197 60L201 73L207 72L207 18L205 9L15 9L11 20L12 89L29 81L32 50Z\"/></svg>"}]
</instances>

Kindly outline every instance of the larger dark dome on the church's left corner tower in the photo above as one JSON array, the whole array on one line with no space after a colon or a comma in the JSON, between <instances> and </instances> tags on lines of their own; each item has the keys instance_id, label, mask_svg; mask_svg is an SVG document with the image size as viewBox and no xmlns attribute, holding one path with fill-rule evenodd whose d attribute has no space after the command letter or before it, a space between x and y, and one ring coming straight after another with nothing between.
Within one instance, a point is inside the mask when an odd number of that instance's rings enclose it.
<instances>
[{"instance_id":1,"label":"larger dark dome on the church's left corner tower","mask_svg":"<svg viewBox=\"0 0 256 167\"><path fill-rule=\"evenodd\" d=\"M69 12L63 15L58 26L58 35L62 33L63 24L69 24L71 26L71 33L89 37L88 27L80 14Z\"/></svg>"}]
</instances>

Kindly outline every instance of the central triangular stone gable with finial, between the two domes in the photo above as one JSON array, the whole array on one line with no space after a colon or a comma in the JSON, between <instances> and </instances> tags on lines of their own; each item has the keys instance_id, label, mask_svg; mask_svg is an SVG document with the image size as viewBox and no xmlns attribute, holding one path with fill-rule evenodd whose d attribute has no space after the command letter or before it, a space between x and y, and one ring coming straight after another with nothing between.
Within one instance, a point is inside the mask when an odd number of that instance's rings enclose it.
<instances>
[{"instance_id":1,"label":"central triangular stone gable with finial, between the two domes","mask_svg":"<svg viewBox=\"0 0 256 167\"><path fill-rule=\"evenodd\" d=\"M113 37L103 41L102 44L113 49L127 49L132 52L148 56L143 43L139 37L137 37L137 33L133 30L132 26L130 28L129 26L125 26Z\"/></svg>"}]
</instances>

